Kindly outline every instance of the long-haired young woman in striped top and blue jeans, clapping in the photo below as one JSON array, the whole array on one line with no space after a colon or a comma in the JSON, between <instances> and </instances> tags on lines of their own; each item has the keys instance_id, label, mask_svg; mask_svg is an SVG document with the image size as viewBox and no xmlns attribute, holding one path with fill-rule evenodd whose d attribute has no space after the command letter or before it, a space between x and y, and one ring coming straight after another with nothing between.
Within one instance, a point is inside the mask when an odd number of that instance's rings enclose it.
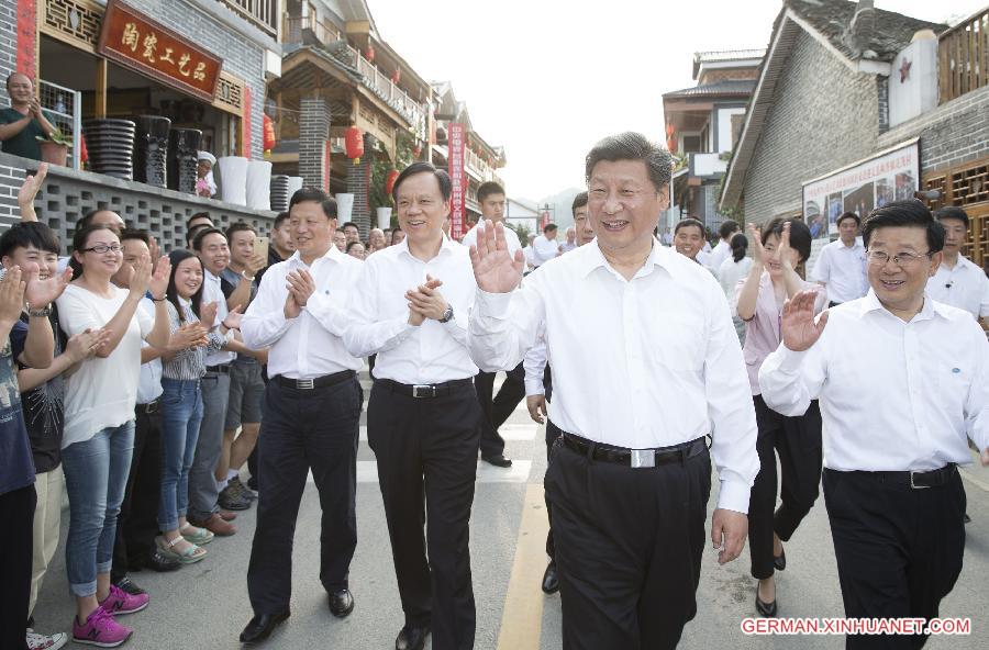
<instances>
[{"instance_id":1,"label":"long-haired young woman in striped top and blue jeans, clapping","mask_svg":"<svg viewBox=\"0 0 989 650\"><path fill-rule=\"evenodd\" d=\"M212 324L216 303L202 303L202 262L188 250L174 250L169 256L171 277L168 280L168 321L171 332L196 328L201 333L192 347L168 352L162 388L162 497L158 501L160 537L155 542L166 556L185 564L203 559L213 534L186 520L189 506L189 470L196 455L199 424L202 422L202 393L199 380L205 373L208 355L225 347L226 323L220 332L209 332L201 323ZM227 321L236 320L236 313Z\"/></svg>"}]
</instances>

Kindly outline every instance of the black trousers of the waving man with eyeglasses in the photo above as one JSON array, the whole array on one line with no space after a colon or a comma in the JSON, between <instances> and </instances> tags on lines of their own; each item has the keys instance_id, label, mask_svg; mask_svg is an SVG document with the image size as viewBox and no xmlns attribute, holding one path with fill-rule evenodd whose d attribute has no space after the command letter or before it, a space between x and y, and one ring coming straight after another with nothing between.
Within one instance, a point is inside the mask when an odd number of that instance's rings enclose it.
<instances>
[{"instance_id":1,"label":"black trousers of the waving man with eyeglasses","mask_svg":"<svg viewBox=\"0 0 989 650\"><path fill-rule=\"evenodd\" d=\"M962 573L965 488L912 489L871 472L824 470L842 599L848 618L936 618ZM925 636L846 637L846 648L913 649Z\"/></svg>"}]
</instances>

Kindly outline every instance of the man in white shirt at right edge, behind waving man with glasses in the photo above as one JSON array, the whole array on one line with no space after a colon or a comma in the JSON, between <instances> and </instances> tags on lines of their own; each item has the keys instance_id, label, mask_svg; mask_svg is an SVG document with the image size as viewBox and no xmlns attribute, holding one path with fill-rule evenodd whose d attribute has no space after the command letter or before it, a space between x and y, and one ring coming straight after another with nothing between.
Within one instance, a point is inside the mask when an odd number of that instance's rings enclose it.
<instances>
[{"instance_id":1,"label":"man in white shirt at right edge, behind waving man with glasses","mask_svg":"<svg viewBox=\"0 0 989 650\"><path fill-rule=\"evenodd\" d=\"M968 238L968 214L954 205L934 212L944 226L944 259L927 280L927 294L975 316L989 330L989 278L967 257L962 246Z\"/></svg>"}]
</instances>

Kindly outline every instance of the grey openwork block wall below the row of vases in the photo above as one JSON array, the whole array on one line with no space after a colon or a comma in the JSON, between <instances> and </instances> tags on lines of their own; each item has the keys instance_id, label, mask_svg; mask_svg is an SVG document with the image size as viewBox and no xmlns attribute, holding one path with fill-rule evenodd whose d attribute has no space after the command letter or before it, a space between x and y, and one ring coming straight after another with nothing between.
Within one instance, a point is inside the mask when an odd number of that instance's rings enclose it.
<instances>
[{"instance_id":1,"label":"grey openwork block wall below the row of vases","mask_svg":"<svg viewBox=\"0 0 989 650\"><path fill-rule=\"evenodd\" d=\"M35 160L0 154L0 232L20 220L18 190L26 173L35 169ZM127 226L147 231L166 251L186 246L186 221L197 212L209 212L213 223L223 228L244 221L259 235L270 233L276 216L269 211L55 166L48 168L34 201L38 221L52 226L64 247L73 240L76 222L95 208L112 210Z\"/></svg>"}]
</instances>

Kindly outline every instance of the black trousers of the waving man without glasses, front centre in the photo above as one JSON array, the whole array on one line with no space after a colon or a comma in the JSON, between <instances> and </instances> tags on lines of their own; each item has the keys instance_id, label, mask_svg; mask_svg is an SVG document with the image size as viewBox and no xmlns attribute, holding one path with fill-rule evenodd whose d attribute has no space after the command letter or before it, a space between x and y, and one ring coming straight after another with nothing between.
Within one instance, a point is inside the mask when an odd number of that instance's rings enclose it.
<instances>
[{"instance_id":1,"label":"black trousers of the waving man without glasses, front centre","mask_svg":"<svg viewBox=\"0 0 989 650\"><path fill-rule=\"evenodd\" d=\"M711 494L707 451L656 468L557 445L546 473L564 650L676 648L697 614Z\"/></svg>"}]
</instances>

